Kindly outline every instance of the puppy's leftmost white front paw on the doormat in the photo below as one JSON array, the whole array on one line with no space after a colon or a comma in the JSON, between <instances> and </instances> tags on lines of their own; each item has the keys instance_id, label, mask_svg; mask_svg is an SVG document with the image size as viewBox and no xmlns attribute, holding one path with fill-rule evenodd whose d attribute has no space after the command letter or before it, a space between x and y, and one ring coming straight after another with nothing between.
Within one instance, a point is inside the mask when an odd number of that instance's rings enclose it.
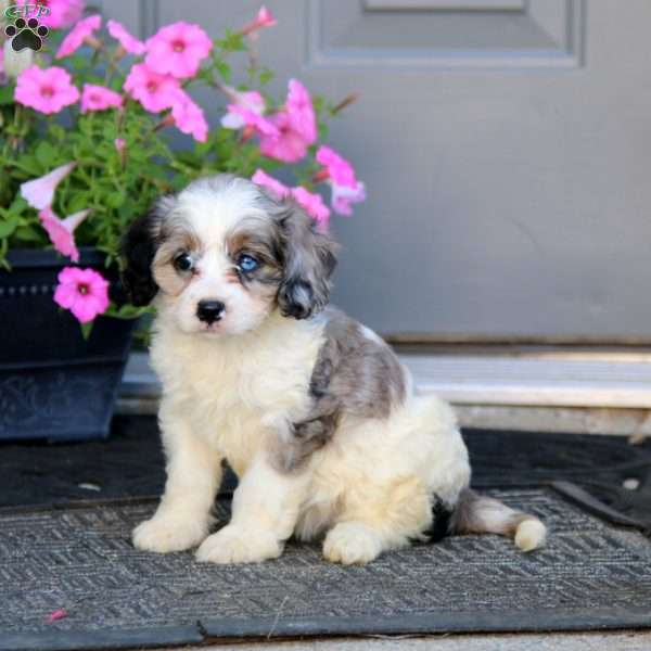
<instances>
[{"instance_id":1,"label":"puppy's leftmost white front paw on the doormat","mask_svg":"<svg viewBox=\"0 0 651 651\"><path fill-rule=\"evenodd\" d=\"M154 515L133 529L133 546L157 553L183 551L196 547L208 535L208 526L205 519Z\"/></svg>"}]
</instances>

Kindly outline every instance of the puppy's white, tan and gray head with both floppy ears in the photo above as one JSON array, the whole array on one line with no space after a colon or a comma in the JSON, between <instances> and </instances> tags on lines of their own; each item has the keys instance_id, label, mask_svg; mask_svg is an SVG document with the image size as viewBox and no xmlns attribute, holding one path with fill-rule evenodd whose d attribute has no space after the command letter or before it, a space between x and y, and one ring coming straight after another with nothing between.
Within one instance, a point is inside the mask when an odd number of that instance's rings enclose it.
<instances>
[{"instance_id":1,"label":"puppy's white, tan and gray head with both floppy ears","mask_svg":"<svg viewBox=\"0 0 651 651\"><path fill-rule=\"evenodd\" d=\"M123 279L187 333L239 334L272 311L306 319L328 303L335 244L292 201L245 179L191 183L129 229Z\"/></svg>"}]
</instances>

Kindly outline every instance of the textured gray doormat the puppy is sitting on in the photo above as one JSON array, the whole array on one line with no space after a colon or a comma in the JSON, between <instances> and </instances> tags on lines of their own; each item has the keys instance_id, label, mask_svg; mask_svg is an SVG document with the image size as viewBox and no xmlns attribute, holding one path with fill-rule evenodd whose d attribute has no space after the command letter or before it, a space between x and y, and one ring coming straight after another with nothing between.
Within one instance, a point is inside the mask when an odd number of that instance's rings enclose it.
<instances>
[{"instance_id":1,"label":"textured gray doormat the puppy is sitting on","mask_svg":"<svg viewBox=\"0 0 651 651\"><path fill-rule=\"evenodd\" d=\"M545 519L548 546L447 538L363 567L290 544L259 565L136 551L150 501L0 513L0 649L92 649L210 637L589 629L651 625L651 541L551 488L490 492ZM228 502L219 505L228 519ZM49 613L67 616L47 623Z\"/></svg>"}]
</instances>

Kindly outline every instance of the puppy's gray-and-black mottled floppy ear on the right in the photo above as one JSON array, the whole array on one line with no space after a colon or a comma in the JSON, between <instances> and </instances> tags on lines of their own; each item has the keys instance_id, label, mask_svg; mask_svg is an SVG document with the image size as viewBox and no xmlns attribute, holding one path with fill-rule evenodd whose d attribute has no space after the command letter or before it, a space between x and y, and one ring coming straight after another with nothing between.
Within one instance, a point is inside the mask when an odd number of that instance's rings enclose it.
<instances>
[{"instance_id":1,"label":"puppy's gray-and-black mottled floppy ear on the right","mask_svg":"<svg viewBox=\"0 0 651 651\"><path fill-rule=\"evenodd\" d=\"M328 304L337 245L293 203L280 215L279 227L284 275L278 290L278 305L285 317L307 319Z\"/></svg>"}]
</instances>

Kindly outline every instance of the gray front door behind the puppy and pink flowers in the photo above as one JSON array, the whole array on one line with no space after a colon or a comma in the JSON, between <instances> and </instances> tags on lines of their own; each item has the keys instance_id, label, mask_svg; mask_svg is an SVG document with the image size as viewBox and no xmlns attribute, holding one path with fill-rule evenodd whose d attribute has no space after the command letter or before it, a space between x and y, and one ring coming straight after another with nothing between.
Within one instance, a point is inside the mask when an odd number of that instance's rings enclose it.
<instances>
[{"instance_id":1,"label":"gray front door behind the puppy and pink flowers","mask_svg":"<svg viewBox=\"0 0 651 651\"><path fill-rule=\"evenodd\" d=\"M104 5L218 35L259 0ZM369 193L335 219L341 306L421 339L651 335L651 1L267 5L279 94L361 94L331 132Z\"/></svg>"}]
</instances>

